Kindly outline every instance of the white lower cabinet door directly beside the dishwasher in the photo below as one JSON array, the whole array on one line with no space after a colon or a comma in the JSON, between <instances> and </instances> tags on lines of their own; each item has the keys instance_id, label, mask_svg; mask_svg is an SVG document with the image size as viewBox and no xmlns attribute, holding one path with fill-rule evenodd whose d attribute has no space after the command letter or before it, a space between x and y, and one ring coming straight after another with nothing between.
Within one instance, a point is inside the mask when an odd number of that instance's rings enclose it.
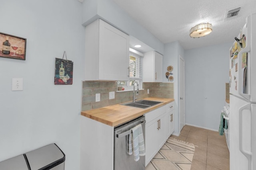
<instances>
[{"instance_id":1,"label":"white lower cabinet door directly beside the dishwasher","mask_svg":"<svg viewBox=\"0 0 256 170\"><path fill-rule=\"evenodd\" d=\"M158 142L158 121L155 119L145 125L145 151L146 151L146 162L147 165L150 160L156 155L157 142Z\"/></svg>"}]
</instances>

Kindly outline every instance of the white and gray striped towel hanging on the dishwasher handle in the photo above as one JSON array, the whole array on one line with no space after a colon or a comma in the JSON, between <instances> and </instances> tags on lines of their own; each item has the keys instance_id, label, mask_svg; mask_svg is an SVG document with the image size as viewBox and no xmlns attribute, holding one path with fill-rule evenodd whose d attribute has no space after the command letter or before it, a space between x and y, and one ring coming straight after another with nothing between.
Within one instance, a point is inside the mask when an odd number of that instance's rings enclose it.
<instances>
[{"instance_id":1,"label":"white and gray striped towel hanging on the dishwasher handle","mask_svg":"<svg viewBox=\"0 0 256 170\"><path fill-rule=\"evenodd\" d=\"M145 145L144 145L144 137L142 126L137 125L131 129L132 132L129 134L128 139L128 154L131 155L133 153L134 160L138 161L140 156L145 156Z\"/></svg>"}]
</instances>

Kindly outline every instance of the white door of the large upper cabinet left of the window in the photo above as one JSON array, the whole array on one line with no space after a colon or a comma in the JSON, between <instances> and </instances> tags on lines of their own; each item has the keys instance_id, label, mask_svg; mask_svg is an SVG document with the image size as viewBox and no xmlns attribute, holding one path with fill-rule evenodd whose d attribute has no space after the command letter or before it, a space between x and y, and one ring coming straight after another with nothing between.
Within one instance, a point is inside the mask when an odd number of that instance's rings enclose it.
<instances>
[{"instance_id":1,"label":"white door of the large upper cabinet left of the window","mask_svg":"<svg viewBox=\"0 0 256 170\"><path fill-rule=\"evenodd\" d=\"M129 36L112 25L99 21L100 80L128 80Z\"/></svg>"}]
</instances>

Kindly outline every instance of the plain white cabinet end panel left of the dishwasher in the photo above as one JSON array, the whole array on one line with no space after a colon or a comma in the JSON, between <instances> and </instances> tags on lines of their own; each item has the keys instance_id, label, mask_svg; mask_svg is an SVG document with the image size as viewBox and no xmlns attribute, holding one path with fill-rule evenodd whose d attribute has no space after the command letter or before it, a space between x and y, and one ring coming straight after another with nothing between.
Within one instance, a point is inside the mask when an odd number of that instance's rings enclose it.
<instances>
[{"instance_id":1,"label":"plain white cabinet end panel left of the dishwasher","mask_svg":"<svg viewBox=\"0 0 256 170\"><path fill-rule=\"evenodd\" d=\"M80 170L114 169L114 127L81 116Z\"/></svg>"}]
</instances>

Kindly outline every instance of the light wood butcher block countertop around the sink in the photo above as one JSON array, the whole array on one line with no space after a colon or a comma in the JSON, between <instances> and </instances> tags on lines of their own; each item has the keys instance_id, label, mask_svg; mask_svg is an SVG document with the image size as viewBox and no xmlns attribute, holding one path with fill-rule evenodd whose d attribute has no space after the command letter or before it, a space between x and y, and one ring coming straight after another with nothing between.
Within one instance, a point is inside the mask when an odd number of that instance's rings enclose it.
<instances>
[{"instance_id":1,"label":"light wood butcher block countertop around the sink","mask_svg":"<svg viewBox=\"0 0 256 170\"><path fill-rule=\"evenodd\" d=\"M81 115L104 123L106 125L116 127L132 119L140 117L144 113L147 113L174 101L174 99L156 97L144 98L142 100L152 100L163 103L148 107L146 109L116 104L112 106L100 107L98 109L81 111Z\"/></svg>"}]
</instances>

